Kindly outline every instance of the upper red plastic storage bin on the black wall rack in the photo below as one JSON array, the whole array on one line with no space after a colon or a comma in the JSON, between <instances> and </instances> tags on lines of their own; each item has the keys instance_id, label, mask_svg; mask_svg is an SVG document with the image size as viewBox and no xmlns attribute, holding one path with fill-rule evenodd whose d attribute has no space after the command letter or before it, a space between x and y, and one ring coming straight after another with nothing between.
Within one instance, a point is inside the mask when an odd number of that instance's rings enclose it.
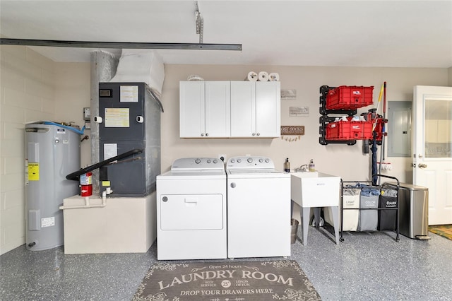
<instances>
[{"instance_id":1,"label":"upper red plastic storage bin on the black wall rack","mask_svg":"<svg viewBox=\"0 0 452 301\"><path fill-rule=\"evenodd\" d=\"M355 110L373 104L374 86L340 85L328 91L326 110Z\"/></svg>"}]
</instances>

